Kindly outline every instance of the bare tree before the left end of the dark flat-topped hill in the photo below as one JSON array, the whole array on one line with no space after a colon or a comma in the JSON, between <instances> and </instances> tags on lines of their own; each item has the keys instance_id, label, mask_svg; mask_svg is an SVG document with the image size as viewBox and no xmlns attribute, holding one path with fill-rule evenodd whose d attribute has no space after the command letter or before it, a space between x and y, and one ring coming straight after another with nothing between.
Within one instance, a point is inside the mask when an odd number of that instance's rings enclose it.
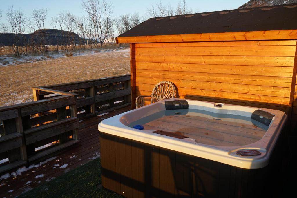
<instances>
[{"instance_id":1,"label":"bare tree before the left end of the dark flat-topped hill","mask_svg":"<svg viewBox=\"0 0 297 198\"><path fill-rule=\"evenodd\" d=\"M48 45L46 40L46 31L44 28L44 22L48 15L48 8L33 9L32 11L32 20L37 27L37 31L34 31L34 36L40 39L41 45L39 46L41 53L48 53ZM43 45L42 45L43 44Z\"/></svg>"}]
</instances>

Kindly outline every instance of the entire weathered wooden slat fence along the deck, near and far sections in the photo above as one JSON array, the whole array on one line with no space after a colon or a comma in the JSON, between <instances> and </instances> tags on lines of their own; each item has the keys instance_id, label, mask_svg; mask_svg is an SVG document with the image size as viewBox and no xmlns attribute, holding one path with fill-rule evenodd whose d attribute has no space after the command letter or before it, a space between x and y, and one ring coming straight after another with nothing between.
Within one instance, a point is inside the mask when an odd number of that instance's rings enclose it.
<instances>
[{"instance_id":1,"label":"entire weathered wooden slat fence along the deck, near and far sections","mask_svg":"<svg viewBox=\"0 0 297 198\"><path fill-rule=\"evenodd\" d=\"M0 173L79 143L79 119L131 105L130 75L32 89L34 102L0 107Z\"/></svg>"}]
</instances>

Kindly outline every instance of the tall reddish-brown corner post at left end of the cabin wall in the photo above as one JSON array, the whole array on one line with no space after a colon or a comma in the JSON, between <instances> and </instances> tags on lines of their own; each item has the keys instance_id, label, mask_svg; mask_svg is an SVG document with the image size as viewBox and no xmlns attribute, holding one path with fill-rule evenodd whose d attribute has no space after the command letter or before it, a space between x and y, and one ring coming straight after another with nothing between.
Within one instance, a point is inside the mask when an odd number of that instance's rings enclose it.
<instances>
[{"instance_id":1,"label":"tall reddish-brown corner post at left end of the cabin wall","mask_svg":"<svg viewBox=\"0 0 297 198\"><path fill-rule=\"evenodd\" d=\"M136 108L136 61L135 61L135 43L130 44L130 70L131 70L131 102L132 109Z\"/></svg>"}]
</instances>

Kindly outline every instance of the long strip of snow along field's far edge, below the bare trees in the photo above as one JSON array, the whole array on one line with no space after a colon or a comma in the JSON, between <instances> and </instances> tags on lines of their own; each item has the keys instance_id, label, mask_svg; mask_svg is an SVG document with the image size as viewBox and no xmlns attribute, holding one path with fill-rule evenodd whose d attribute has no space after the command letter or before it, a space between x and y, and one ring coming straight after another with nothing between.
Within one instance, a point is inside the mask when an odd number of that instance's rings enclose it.
<instances>
[{"instance_id":1,"label":"long strip of snow along field's far edge, below the bare trees","mask_svg":"<svg viewBox=\"0 0 297 198\"><path fill-rule=\"evenodd\" d=\"M125 49L124 47L117 47L114 49L92 49L92 50L78 50L77 52L73 53L73 56L89 56L96 53L104 53L104 52L111 52L111 51L121 51L121 52L129 52L129 49ZM126 57L129 57L125 55ZM49 60L54 58L63 58L67 57L65 52L59 51L59 53L55 52L48 52L47 54L41 55L28 55L28 56L21 56L15 57L12 55L2 55L0 56L0 67L1 66L8 66L8 65L19 65L23 63L33 63L36 61L42 60Z\"/></svg>"}]
</instances>

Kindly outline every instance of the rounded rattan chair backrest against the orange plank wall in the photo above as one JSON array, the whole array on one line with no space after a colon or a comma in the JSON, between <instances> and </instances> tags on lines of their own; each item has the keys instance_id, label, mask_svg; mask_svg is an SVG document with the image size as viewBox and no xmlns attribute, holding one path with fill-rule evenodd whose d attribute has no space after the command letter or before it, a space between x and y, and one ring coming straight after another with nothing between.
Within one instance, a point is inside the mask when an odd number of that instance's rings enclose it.
<instances>
[{"instance_id":1,"label":"rounded rattan chair backrest against the orange plank wall","mask_svg":"<svg viewBox=\"0 0 297 198\"><path fill-rule=\"evenodd\" d=\"M173 83L168 81L159 82L152 91L151 102L153 99L157 99L157 101L161 101L167 98L174 98L175 96L175 88Z\"/></svg>"}]
</instances>

